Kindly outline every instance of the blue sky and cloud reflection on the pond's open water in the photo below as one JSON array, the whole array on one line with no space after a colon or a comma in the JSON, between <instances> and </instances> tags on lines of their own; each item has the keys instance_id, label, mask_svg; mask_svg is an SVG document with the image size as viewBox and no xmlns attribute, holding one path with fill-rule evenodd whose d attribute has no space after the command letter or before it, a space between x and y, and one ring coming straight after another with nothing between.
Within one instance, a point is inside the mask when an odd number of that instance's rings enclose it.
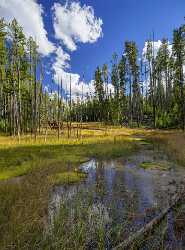
<instances>
[{"instance_id":1,"label":"blue sky and cloud reflection on the pond's open water","mask_svg":"<svg viewBox=\"0 0 185 250\"><path fill-rule=\"evenodd\" d=\"M121 220L124 211L127 212L132 204L136 214L143 214L146 208L155 205L156 190L160 190L160 186L156 188L159 183L155 182L152 172L137 167L138 161L143 159L148 160L148 156L141 155L137 161L123 164L119 168L116 168L116 161L98 163L91 160L81 166L81 169L89 173L86 183L89 188L94 187L92 194L95 202L101 201L111 208L116 221ZM105 192L102 194L101 190ZM129 195L125 195L125 190ZM136 219L135 225L144 222L144 218Z\"/></svg>"}]
</instances>

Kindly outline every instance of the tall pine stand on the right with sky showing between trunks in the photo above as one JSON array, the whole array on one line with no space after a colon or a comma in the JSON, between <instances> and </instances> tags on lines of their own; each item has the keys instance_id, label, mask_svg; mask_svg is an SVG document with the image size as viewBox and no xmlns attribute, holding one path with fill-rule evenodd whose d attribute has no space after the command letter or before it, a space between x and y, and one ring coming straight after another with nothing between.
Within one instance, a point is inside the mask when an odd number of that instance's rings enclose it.
<instances>
[{"instance_id":1,"label":"tall pine stand on the right with sky showing between trunks","mask_svg":"<svg viewBox=\"0 0 185 250\"><path fill-rule=\"evenodd\" d=\"M164 38L157 50L148 40L142 55L134 41L126 41L121 58L114 53L109 68L105 64L95 71L93 120L184 130L185 25L174 30L171 44Z\"/></svg>"}]
</instances>

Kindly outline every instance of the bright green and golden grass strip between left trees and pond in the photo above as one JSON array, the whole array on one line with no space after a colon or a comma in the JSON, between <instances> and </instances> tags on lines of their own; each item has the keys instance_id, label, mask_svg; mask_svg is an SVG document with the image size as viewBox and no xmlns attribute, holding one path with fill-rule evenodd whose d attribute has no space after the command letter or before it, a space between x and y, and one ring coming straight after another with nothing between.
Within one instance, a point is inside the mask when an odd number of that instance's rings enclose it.
<instances>
[{"instance_id":1,"label":"bright green and golden grass strip between left trees and pond","mask_svg":"<svg viewBox=\"0 0 185 250\"><path fill-rule=\"evenodd\" d=\"M44 136L38 136L35 142L24 136L18 144L17 138L0 137L0 180L24 175L38 167L79 165L92 157L117 158L134 150L135 130L95 128L84 129L80 139L64 135L57 140L51 134L46 142Z\"/></svg>"}]
</instances>

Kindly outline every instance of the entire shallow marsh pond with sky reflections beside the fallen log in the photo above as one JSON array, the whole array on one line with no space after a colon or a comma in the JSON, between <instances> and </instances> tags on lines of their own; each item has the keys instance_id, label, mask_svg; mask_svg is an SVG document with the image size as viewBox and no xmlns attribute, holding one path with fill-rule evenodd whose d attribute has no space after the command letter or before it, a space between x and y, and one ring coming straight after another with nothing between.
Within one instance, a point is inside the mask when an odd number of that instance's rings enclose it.
<instances>
[{"instance_id":1,"label":"entire shallow marsh pond with sky reflections beside the fallen log","mask_svg":"<svg viewBox=\"0 0 185 250\"><path fill-rule=\"evenodd\" d=\"M166 164L164 169L143 169L143 162ZM87 179L76 186L57 186L49 205L49 221L52 224L60 210L61 202L73 201L77 194L84 206L91 195L91 212L100 213L107 232L115 229L115 242L121 242L150 222L167 207L185 180L185 169L169 161L167 156L153 148L142 145L141 150L127 158L110 161L91 161L82 164L81 171L87 172ZM176 240L173 229L173 212L167 216L166 249L183 249L183 240ZM117 230L117 231L116 231ZM112 232L112 231L111 231ZM108 234L108 233L107 233ZM119 236L118 236L119 234ZM107 236L105 249L112 249L114 243ZM157 238L156 238L157 239ZM155 240L156 240L155 239ZM150 241L151 244L152 240ZM173 248L170 248L173 246ZM90 247L94 249L96 247ZM145 246L141 249L158 249Z\"/></svg>"}]
</instances>

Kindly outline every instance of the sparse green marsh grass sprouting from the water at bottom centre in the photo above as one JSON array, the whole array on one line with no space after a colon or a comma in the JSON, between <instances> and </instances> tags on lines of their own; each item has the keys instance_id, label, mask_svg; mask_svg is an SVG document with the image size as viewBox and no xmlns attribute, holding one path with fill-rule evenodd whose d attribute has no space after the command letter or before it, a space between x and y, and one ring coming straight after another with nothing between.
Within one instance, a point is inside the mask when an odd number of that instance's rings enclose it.
<instances>
[{"instance_id":1,"label":"sparse green marsh grass sprouting from the water at bottom centre","mask_svg":"<svg viewBox=\"0 0 185 250\"><path fill-rule=\"evenodd\" d=\"M46 233L44 249L106 248L110 217L103 205L93 203L91 193L79 192L73 200L61 202L59 211Z\"/></svg>"}]
</instances>

